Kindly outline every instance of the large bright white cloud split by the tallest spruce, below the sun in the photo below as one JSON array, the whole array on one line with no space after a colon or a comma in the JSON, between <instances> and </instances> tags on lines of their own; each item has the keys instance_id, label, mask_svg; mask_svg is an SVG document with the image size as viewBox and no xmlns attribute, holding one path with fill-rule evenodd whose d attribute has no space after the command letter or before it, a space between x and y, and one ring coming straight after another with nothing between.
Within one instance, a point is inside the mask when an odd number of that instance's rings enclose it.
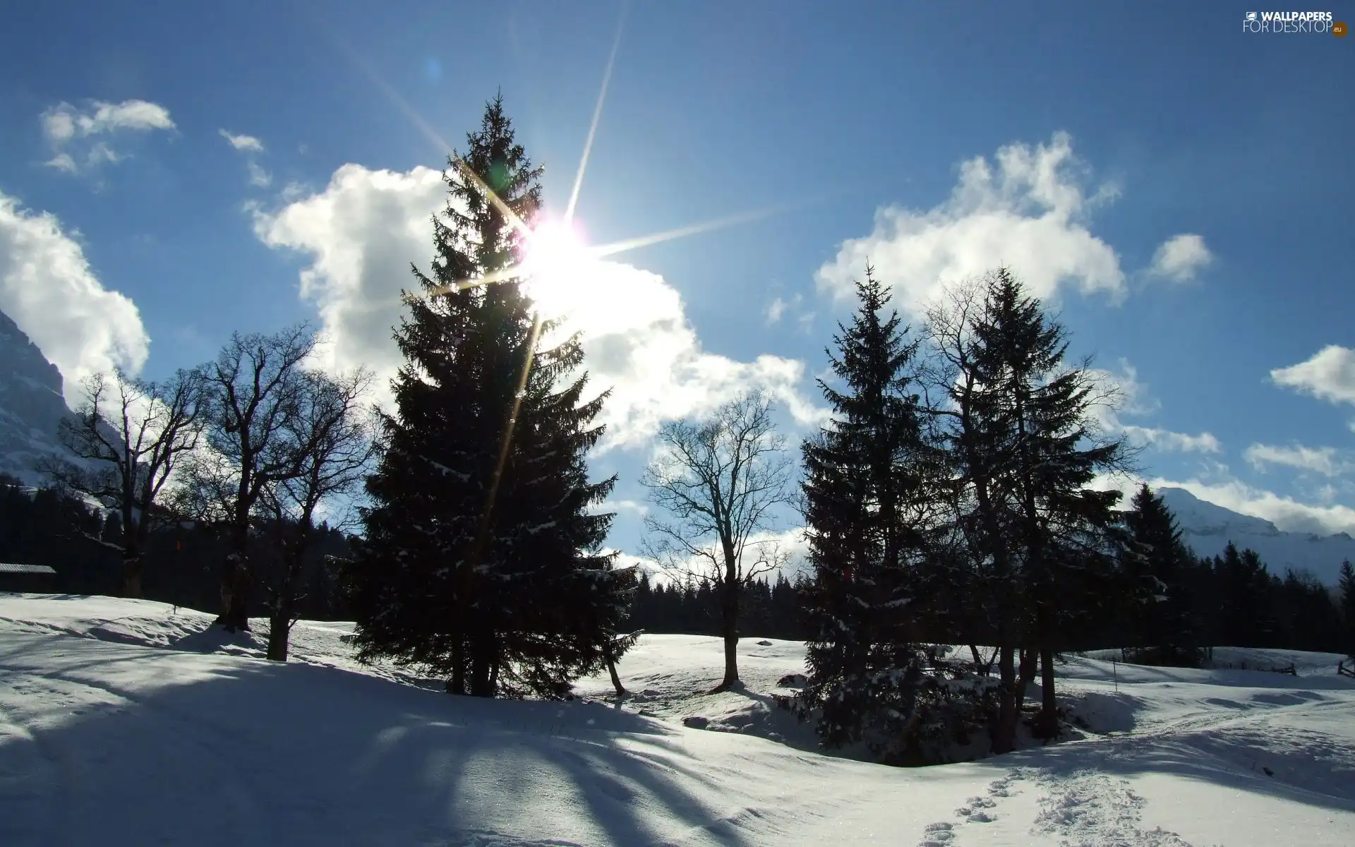
<instances>
[{"instance_id":1,"label":"large bright white cloud split by the tallest spruce, below the sun","mask_svg":"<svg viewBox=\"0 0 1355 847\"><path fill-rule=\"evenodd\" d=\"M325 365L369 365L381 379L400 365L390 339L401 287L413 289L409 263L431 257L434 210L446 203L442 173L405 173L347 164L329 186L276 213L255 209L255 232L268 245L309 253L301 295L320 309ZM799 360L762 355L737 362L702 350L682 295L661 276L618 262L589 260L568 285L533 286L547 316L565 314L583 332L591 385L611 388L599 423L599 453L637 447L664 420L702 415L749 386L768 389L795 421L816 426L824 411L799 393Z\"/></svg>"}]
</instances>

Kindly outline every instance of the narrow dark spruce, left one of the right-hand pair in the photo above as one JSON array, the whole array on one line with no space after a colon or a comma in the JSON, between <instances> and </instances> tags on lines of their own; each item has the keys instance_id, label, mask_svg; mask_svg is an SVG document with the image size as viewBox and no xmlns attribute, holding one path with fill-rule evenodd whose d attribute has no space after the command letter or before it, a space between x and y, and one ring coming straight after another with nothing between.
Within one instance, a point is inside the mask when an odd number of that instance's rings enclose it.
<instances>
[{"instance_id":1,"label":"narrow dark spruce, left one of the right-hand pair","mask_svg":"<svg viewBox=\"0 0 1355 847\"><path fill-rule=\"evenodd\" d=\"M862 737L908 744L925 664L912 606L923 595L932 461L911 393L917 342L897 313L882 314L889 289L869 267L856 295L855 320L839 324L829 351L844 388L820 381L833 417L802 446L813 566L802 707L821 710L817 732L831 747Z\"/></svg>"}]
</instances>

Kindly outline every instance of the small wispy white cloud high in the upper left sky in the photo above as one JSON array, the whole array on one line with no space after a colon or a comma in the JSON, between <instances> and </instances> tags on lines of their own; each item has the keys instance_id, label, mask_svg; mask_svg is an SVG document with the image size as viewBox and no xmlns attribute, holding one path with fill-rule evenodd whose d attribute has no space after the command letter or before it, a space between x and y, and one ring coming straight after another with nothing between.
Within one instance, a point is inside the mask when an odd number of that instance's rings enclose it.
<instances>
[{"instance_id":1,"label":"small wispy white cloud high in the upper left sky","mask_svg":"<svg viewBox=\"0 0 1355 847\"><path fill-rule=\"evenodd\" d=\"M95 136L175 129L169 110L146 100L122 103L93 100L84 110L70 103L58 103L42 112L39 123L53 152L46 164L68 173L79 173L98 168L103 163L125 159L107 141L92 141Z\"/></svg>"}]
</instances>

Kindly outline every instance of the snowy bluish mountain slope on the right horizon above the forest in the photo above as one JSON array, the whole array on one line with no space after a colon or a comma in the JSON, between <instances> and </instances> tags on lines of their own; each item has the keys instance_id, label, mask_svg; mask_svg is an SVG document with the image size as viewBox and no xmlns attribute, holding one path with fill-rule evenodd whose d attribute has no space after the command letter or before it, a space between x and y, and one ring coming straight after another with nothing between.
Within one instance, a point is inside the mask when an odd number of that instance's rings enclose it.
<instances>
[{"instance_id":1,"label":"snowy bluish mountain slope on the right horizon above the forest","mask_svg":"<svg viewBox=\"0 0 1355 847\"><path fill-rule=\"evenodd\" d=\"M1346 533L1285 533L1270 520L1214 505L1183 488L1163 488L1157 493L1176 515L1182 538L1196 556L1220 554L1232 541L1238 550L1256 550L1271 573L1283 576L1286 568L1310 571L1328 585L1336 584L1341 561L1355 562L1355 538Z\"/></svg>"}]
</instances>

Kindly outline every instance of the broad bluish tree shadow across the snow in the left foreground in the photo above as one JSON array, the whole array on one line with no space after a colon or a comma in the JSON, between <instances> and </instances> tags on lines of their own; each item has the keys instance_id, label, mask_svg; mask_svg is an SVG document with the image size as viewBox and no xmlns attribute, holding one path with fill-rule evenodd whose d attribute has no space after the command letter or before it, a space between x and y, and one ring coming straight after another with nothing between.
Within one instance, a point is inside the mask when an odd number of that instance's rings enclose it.
<instances>
[{"instance_id":1,"label":"broad bluish tree shadow across the snow in the left foreground","mask_svg":"<svg viewBox=\"0 0 1355 847\"><path fill-rule=\"evenodd\" d=\"M680 730L602 703L15 638L0 688L22 699L0 695L0 759L20 764L0 771L33 787L22 804L0 790L0 820L57 843L748 843L748 810L715 800Z\"/></svg>"}]
</instances>

